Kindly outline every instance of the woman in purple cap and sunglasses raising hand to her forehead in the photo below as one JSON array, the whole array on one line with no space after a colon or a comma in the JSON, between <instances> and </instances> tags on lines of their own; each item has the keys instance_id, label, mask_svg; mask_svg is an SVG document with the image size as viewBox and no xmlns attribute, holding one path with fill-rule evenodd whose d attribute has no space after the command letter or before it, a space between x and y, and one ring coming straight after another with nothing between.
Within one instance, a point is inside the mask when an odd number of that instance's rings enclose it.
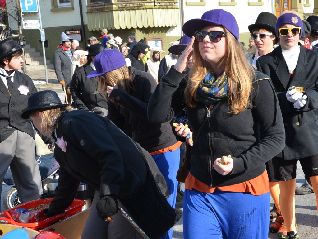
<instances>
[{"instance_id":1,"label":"woman in purple cap and sunglasses raising hand to her forehead","mask_svg":"<svg viewBox=\"0 0 318 239\"><path fill-rule=\"evenodd\" d=\"M147 113L151 122L163 123L188 106L193 146L183 198L184 239L267 239L265 163L285 142L274 89L269 77L248 63L231 13L207 11L186 22L183 32L194 37L161 78ZM195 62L185 74L190 56Z\"/></svg>"}]
</instances>

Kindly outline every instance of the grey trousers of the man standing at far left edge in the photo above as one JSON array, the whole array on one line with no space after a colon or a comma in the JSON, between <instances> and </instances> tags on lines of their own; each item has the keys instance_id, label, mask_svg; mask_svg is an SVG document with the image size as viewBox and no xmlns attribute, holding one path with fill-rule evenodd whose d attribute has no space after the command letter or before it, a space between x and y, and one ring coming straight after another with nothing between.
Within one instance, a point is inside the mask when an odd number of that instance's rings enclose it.
<instances>
[{"instance_id":1,"label":"grey trousers of the man standing at far left edge","mask_svg":"<svg viewBox=\"0 0 318 239\"><path fill-rule=\"evenodd\" d=\"M15 130L0 143L0 180L9 166L21 203L39 199L43 193L40 170L35 161L34 139L22 131ZM0 184L0 193L2 183ZM1 199L1 194L0 194ZM0 206L0 211L1 206Z\"/></svg>"}]
</instances>

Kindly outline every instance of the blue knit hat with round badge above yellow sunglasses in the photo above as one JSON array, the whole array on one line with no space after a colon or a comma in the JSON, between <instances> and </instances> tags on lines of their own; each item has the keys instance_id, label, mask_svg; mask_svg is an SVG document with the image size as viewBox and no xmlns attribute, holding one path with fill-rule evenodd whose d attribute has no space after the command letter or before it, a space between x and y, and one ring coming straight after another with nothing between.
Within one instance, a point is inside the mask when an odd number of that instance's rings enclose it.
<instances>
[{"instance_id":1,"label":"blue knit hat with round badge above yellow sunglasses","mask_svg":"<svg viewBox=\"0 0 318 239\"><path fill-rule=\"evenodd\" d=\"M298 26L301 28L299 37L301 37L303 24L301 20L301 16L296 11L283 11L277 18L276 21L276 34L279 36L278 28L280 28L284 24L292 24L294 26Z\"/></svg>"}]
</instances>

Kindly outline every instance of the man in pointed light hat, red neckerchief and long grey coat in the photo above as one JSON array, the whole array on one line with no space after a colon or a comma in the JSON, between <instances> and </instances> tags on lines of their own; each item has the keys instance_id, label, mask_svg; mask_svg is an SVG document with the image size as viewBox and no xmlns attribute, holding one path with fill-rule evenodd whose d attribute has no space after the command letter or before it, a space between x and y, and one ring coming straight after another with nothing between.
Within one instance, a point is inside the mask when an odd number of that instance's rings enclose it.
<instances>
[{"instance_id":1,"label":"man in pointed light hat, red neckerchief and long grey coat","mask_svg":"<svg viewBox=\"0 0 318 239\"><path fill-rule=\"evenodd\" d=\"M74 49L71 47L72 42L73 39L62 32L61 43L59 44L58 49L55 51L53 57L53 65L56 77L64 89L67 89L72 79L71 68L74 53ZM68 104L71 103L71 95L67 94L67 100L65 98L65 102Z\"/></svg>"}]
</instances>

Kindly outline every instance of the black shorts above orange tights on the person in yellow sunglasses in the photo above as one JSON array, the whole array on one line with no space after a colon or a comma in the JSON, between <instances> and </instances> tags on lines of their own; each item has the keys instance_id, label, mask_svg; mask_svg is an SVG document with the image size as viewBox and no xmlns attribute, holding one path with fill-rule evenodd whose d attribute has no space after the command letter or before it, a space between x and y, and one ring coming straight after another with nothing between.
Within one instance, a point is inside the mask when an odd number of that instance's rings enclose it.
<instances>
[{"instance_id":1,"label":"black shorts above orange tights on the person in yellow sunglasses","mask_svg":"<svg viewBox=\"0 0 318 239\"><path fill-rule=\"evenodd\" d=\"M275 171L275 179L278 181L288 181L296 178L297 162L300 162L305 178L318 175L318 154L306 158L284 160L274 157L273 165Z\"/></svg>"}]
</instances>

